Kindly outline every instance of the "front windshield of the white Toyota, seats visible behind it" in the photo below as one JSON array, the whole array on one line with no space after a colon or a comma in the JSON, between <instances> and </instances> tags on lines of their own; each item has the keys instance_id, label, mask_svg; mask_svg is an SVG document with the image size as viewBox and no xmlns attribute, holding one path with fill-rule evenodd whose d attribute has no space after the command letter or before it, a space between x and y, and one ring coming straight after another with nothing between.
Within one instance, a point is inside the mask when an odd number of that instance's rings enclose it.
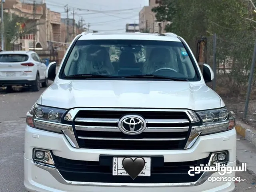
<instances>
[{"instance_id":1,"label":"front windshield of the white Toyota, seats visible behind it","mask_svg":"<svg viewBox=\"0 0 256 192\"><path fill-rule=\"evenodd\" d=\"M148 75L198 81L191 54L182 42L154 40L78 40L60 77L92 74L105 78ZM107 75L107 76L106 76ZM92 77L92 76L91 76ZM140 80L142 78L139 78Z\"/></svg>"}]
</instances>

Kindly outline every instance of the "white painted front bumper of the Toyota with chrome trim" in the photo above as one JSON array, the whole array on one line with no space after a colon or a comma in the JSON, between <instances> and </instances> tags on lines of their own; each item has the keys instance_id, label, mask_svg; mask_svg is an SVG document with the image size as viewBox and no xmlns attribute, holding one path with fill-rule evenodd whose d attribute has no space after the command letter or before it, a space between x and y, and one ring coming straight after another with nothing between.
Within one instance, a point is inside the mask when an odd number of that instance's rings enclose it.
<instances>
[{"instance_id":1,"label":"white painted front bumper of the Toyota with chrome trim","mask_svg":"<svg viewBox=\"0 0 256 192\"><path fill-rule=\"evenodd\" d=\"M65 180L54 168L36 166L32 160L32 150L42 148L52 150L56 156L86 161L99 161L100 155L113 156L157 156L163 155L164 162L193 161L209 156L210 152L227 150L229 166L236 166L236 131L230 130L218 134L201 136L188 150L94 150L73 148L62 134L42 131L26 126L24 152L24 185L30 192L120 192L134 190L174 191L174 192L232 192L234 182L209 182L209 176L218 177L218 173L204 173L195 183L98 183L72 182ZM234 177L235 173L224 177Z\"/></svg>"}]
</instances>

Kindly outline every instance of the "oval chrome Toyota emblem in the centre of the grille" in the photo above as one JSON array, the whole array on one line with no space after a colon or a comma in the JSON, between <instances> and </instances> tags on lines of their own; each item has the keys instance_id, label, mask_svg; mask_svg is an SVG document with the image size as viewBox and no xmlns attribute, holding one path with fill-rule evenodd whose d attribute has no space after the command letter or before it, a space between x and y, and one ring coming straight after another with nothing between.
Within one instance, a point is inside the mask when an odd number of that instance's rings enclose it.
<instances>
[{"instance_id":1,"label":"oval chrome Toyota emblem in the centre of the grille","mask_svg":"<svg viewBox=\"0 0 256 192\"><path fill-rule=\"evenodd\" d=\"M142 116L126 115L119 120L118 128L124 134L137 135L146 129L146 121Z\"/></svg>"}]
</instances>

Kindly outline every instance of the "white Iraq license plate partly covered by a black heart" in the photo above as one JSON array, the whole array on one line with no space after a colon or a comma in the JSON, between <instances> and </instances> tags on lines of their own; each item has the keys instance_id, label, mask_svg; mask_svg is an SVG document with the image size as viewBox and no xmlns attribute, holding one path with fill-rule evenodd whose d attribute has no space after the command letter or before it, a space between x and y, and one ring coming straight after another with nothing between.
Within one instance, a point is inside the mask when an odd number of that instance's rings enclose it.
<instances>
[{"instance_id":1,"label":"white Iraq license plate partly covered by a black heart","mask_svg":"<svg viewBox=\"0 0 256 192\"><path fill-rule=\"evenodd\" d=\"M132 157L134 160L136 157ZM144 158L144 157L143 157ZM122 165L124 157L113 157L113 176L129 176ZM145 166L138 176L151 176L151 158L145 157Z\"/></svg>"}]
</instances>

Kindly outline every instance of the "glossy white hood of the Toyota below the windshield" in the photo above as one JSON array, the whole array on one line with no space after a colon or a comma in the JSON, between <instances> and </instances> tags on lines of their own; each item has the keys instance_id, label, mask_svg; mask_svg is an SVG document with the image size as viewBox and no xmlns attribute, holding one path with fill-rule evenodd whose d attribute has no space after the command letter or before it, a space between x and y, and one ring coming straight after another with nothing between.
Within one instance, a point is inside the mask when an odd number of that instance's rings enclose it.
<instances>
[{"instance_id":1,"label":"glossy white hood of the Toyota below the windshield","mask_svg":"<svg viewBox=\"0 0 256 192\"><path fill-rule=\"evenodd\" d=\"M72 80L55 82L38 104L56 108L176 108L205 110L224 105L205 84L176 81Z\"/></svg>"}]
</instances>

